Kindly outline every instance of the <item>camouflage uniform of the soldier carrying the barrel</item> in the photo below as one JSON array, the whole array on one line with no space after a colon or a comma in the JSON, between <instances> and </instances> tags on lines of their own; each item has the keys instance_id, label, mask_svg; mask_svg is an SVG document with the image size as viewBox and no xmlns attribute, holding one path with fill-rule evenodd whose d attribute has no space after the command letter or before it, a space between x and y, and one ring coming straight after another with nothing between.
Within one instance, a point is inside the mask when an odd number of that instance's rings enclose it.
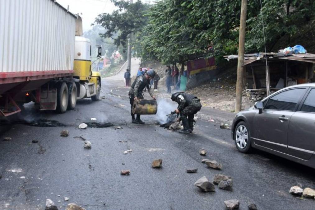
<instances>
[{"instance_id":1,"label":"camouflage uniform of the soldier carrying the barrel","mask_svg":"<svg viewBox=\"0 0 315 210\"><path fill-rule=\"evenodd\" d=\"M131 105L131 116L132 116L133 120L135 119L135 115L132 113L132 107L133 107L133 104L134 104L135 96L138 99L143 99L144 95L143 95L142 91L145 88L147 88L150 96L152 97L153 96L153 91L151 89L150 79L146 79L145 74L143 74L143 75L138 76L135 79L135 81L132 83L131 88L129 90L129 100L130 100L129 102L130 102L130 105ZM137 119L140 119L140 114L137 114Z\"/></svg>"}]
</instances>

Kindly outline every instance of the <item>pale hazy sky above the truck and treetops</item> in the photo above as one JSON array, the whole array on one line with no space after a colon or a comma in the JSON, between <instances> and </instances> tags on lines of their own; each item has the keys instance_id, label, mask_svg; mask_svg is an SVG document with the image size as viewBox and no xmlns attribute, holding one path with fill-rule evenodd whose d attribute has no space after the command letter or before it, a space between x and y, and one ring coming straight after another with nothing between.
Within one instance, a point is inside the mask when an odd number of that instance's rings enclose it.
<instances>
[{"instance_id":1,"label":"pale hazy sky above the truck and treetops","mask_svg":"<svg viewBox=\"0 0 315 210\"><path fill-rule=\"evenodd\" d=\"M97 15L112 13L115 9L114 4L110 0L57 0L57 2L64 8L67 8L69 5L70 12L74 14L79 13L83 21L83 31L91 29L91 24ZM142 0L142 2L150 2L150 0Z\"/></svg>"}]
</instances>

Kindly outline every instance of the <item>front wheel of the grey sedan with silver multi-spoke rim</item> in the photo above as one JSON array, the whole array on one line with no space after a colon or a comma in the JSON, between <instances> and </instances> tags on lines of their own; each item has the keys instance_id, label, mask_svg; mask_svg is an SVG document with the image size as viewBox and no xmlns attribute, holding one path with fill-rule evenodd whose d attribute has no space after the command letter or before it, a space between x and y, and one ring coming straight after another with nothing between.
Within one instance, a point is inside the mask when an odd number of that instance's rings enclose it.
<instances>
[{"instance_id":1,"label":"front wheel of the grey sedan with silver multi-spoke rim","mask_svg":"<svg viewBox=\"0 0 315 210\"><path fill-rule=\"evenodd\" d=\"M239 122L234 130L235 146L238 151L247 153L251 149L250 131L244 121Z\"/></svg>"}]
</instances>

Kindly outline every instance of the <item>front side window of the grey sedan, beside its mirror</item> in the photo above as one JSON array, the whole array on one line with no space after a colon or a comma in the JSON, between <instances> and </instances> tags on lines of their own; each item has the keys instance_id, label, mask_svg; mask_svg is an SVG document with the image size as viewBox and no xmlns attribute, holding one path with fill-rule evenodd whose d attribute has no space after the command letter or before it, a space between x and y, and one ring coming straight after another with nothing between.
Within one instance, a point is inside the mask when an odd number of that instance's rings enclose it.
<instances>
[{"instance_id":1,"label":"front side window of the grey sedan, beside its mirror","mask_svg":"<svg viewBox=\"0 0 315 210\"><path fill-rule=\"evenodd\" d=\"M296 103L303 95L305 88L292 89L272 96L267 101L265 109L294 111Z\"/></svg>"}]
</instances>

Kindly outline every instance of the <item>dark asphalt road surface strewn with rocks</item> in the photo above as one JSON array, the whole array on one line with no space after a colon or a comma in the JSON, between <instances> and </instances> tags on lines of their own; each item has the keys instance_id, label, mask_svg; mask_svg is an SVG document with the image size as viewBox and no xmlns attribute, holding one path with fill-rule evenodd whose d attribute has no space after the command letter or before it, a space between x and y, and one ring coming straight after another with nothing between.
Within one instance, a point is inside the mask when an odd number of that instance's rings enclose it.
<instances>
[{"instance_id":1,"label":"dark asphalt road surface strewn with rocks","mask_svg":"<svg viewBox=\"0 0 315 210\"><path fill-rule=\"evenodd\" d=\"M60 209L73 202L86 209L223 210L228 199L238 199L243 210L250 203L266 210L315 209L314 199L289 194L298 184L315 188L313 169L260 151L239 153L229 130L202 119L189 135L163 129L151 115L142 117L145 125L131 124L123 82L109 79L102 84L103 100L78 101L65 114L29 107L9 118L11 124L2 122L0 139L12 140L0 141L0 209L44 209L46 198ZM94 122L93 117L123 129L78 129L82 122ZM27 124L40 120L63 125ZM60 137L62 130L69 130L69 137ZM91 149L83 148L83 139L92 143ZM202 148L206 156L199 155ZM123 155L128 149L132 152ZM203 158L217 160L222 170L208 168ZM161 169L151 168L154 159L163 159ZM190 167L198 172L186 173ZM120 175L124 169L131 171L129 176ZM231 176L233 190L216 187L203 193L194 186L203 176L212 181L215 174Z\"/></svg>"}]
</instances>

